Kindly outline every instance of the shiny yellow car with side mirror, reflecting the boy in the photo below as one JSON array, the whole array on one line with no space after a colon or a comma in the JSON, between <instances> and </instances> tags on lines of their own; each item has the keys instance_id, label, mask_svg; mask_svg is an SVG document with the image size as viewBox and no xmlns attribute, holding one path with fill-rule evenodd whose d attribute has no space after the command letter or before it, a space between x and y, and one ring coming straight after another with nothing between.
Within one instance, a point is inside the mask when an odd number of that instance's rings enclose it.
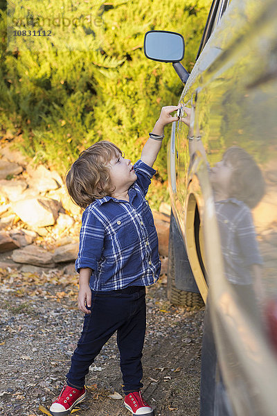
<instances>
[{"instance_id":1,"label":"shiny yellow car with side mirror, reflecting the boy","mask_svg":"<svg viewBox=\"0 0 277 416\"><path fill-rule=\"evenodd\" d=\"M277 2L213 0L191 73L179 33L150 31L144 50L184 83L168 295L206 304L200 415L276 416Z\"/></svg>"}]
</instances>

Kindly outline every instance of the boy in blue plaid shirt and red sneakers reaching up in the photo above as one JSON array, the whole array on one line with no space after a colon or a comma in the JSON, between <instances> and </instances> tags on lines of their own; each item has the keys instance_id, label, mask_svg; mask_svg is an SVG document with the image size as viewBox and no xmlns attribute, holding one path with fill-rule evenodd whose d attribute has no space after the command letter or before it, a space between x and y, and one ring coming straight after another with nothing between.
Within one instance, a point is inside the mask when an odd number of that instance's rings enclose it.
<instances>
[{"instance_id":1,"label":"boy in blue plaid shirt and red sneakers reaching up","mask_svg":"<svg viewBox=\"0 0 277 416\"><path fill-rule=\"evenodd\" d=\"M73 163L66 187L84 208L75 269L80 273L78 307L86 315L67 385L52 404L53 416L68 415L84 400L84 377L102 346L117 331L124 404L132 415L152 415L145 403L141 365L145 336L145 286L159 279L157 232L145 200L166 124L179 106L163 107L141 159L132 166L121 150L100 141Z\"/></svg>"}]
</instances>

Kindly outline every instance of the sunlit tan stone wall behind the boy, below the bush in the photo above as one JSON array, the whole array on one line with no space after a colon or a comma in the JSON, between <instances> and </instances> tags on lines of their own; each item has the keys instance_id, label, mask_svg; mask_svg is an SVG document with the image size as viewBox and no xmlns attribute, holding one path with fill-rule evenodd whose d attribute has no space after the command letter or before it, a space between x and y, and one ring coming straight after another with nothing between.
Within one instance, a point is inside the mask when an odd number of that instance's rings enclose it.
<instances>
[{"instance_id":1,"label":"sunlit tan stone wall behind the boy, below the bush","mask_svg":"<svg viewBox=\"0 0 277 416\"><path fill-rule=\"evenodd\" d=\"M153 212L161 256L168 254L170 207ZM0 268L74 272L82 210L64 180L43 165L32 166L9 144L0 146Z\"/></svg>"}]
</instances>

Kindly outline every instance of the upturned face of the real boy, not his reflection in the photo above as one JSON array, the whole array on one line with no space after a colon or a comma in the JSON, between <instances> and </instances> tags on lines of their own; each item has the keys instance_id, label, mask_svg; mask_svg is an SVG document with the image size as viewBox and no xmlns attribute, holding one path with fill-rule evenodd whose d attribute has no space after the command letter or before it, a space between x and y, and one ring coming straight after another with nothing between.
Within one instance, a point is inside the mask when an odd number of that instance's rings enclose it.
<instances>
[{"instance_id":1,"label":"upturned face of the real boy, not his reflection","mask_svg":"<svg viewBox=\"0 0 277 416\"><path fill-rule=\"evenodd\" d=\"M108 166L112 187L116 188L114 195L129 189L137 179L130 160L124 159L119 153L109 161Z\"/></svg>"}]
</instances>

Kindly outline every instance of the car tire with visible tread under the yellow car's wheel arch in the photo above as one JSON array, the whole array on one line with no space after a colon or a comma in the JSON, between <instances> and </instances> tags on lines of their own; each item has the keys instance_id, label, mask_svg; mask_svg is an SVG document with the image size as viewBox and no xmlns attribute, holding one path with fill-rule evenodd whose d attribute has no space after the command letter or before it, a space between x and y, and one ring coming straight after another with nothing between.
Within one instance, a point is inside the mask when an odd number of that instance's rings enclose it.
<instances>
[{"instance_id":1,"label":"car tire with visible tread under the yellow car's wheel arch","mask_svg":"<svg viewBox=\"0 0 277 416\"><path fill-rule=\"evenodd\" d=\"M200 293L186 292L177 289L175 286L175 261L174 246L170 227L168 243L168 300L174 306L189 306L190 308L200 309L204 302Z\"/></svg>"}]
</instances>

